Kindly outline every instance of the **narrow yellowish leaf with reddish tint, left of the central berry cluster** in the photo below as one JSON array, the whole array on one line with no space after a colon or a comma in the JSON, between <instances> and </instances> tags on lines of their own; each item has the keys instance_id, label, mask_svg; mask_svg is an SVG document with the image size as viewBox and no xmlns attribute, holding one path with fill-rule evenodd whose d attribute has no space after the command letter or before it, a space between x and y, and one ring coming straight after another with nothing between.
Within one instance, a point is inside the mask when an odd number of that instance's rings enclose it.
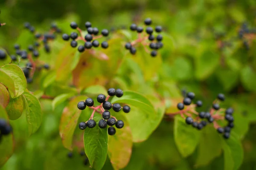
<instances>
[{"instance_id":1,"label":"narrow yellowish leaf with reddish tint, left of the central berry cluster","mask_svg":"<svg viewBox=\"0 0 256 170\"><path fill-rule=\"evenodd\" d=\"M81 110L77 108L77 104L80 101L84 101L86 98L86 96L74 97L64 108L61 115L61 122L59 126L60 136L64 147L69 150L72 150L73 134L81 114Z\"/></svg>"}]
</instances>

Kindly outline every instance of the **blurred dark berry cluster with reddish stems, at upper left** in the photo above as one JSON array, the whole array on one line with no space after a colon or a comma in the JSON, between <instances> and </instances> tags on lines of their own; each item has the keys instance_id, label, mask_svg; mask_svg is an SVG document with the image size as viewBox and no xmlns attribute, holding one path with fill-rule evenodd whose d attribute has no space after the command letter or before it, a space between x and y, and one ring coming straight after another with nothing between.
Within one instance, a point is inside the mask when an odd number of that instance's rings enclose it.
<instances>
[{"instance_id":1,"label":"blurred dark berry cluster with reddish stems, at upper left","mask_svg":"<svg viewBox=\"0 0 256 170\"><path fill-rule=\"evenodd\" d=\"M58 26L55 23L51 24L50 27L50 31L48 33L45 34L40 34L40 33L35 33L35 27L31 26L30 23L26 22L24 23L24 27L29 29L29 31L31 31L31 33L33 33L35 35L35 38L38 40L42 40L42 42L44 43L44 50L49 53L50 52L50 46L48 44L49 40L54 40L56 35L55 33L61 33L61 29L58 28ZM34 51L34 48L37 48L40 45L39 42L35 42L34 45L29 45L29 51ZM38 57L39 53L38 51L35 51L35 53L33 52L33 55L35 57Z\"/></svg>"}]
</instances>

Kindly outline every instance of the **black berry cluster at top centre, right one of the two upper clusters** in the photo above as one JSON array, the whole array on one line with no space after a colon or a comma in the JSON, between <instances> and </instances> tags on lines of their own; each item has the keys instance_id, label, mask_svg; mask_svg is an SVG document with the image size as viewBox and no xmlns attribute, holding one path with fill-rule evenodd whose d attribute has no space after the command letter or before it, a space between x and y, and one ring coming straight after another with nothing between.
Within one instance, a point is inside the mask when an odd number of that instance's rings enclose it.
<instances>
[{"instance_id":1,"label":"black berry cluster at top centre, right one of the two upper clusters","mask_svg":"<svg viewBox=\"0 0 256 170\"><path fill-rule=\"evenodd\" d=\"M146 26L148 26L146 28L146 33L148 34L148 40L151 41L151 43L149 44L149 48L153 50L151 51L151 56L156 57L157 56L156 50L163 47L163 42L162 42L163 36L161 34L158 34L157 37L153 35L154 29L150 26L152 23L152 20L150 18L146 18L144 20L144 23ZM143 32L143 27L137 26L136 24L131 24L130 29L131 31L137 31L137 33L139 34ZM162 31L162 26L156 26L155 31L157 33L160 33ZM130 50L131 54L136 53L136 48L130 42L127 42L125 44L125 48Z\"/></svg>"}]
</instances>

